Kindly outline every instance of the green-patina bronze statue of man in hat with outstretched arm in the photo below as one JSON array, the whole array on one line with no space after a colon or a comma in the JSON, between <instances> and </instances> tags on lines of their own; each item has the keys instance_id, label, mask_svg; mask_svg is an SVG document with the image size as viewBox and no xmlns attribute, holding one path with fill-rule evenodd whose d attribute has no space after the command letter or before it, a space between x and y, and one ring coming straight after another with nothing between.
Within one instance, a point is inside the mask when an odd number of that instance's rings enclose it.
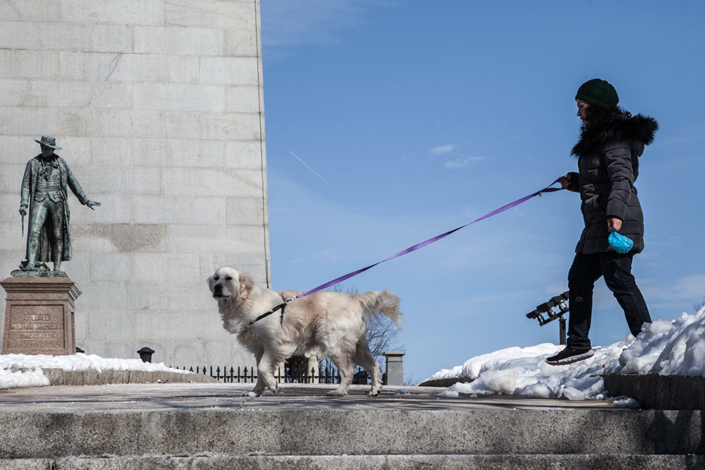
<instances>
[{"instance_id":1,"label":"green-patina bronze statue of man in hat with outstretched arm","mask_svg":"<svg viewBox=\"0 0 705 470\"><path fill-rule=\"evenodd\" d=\"M68 192L70 187L79 202L92 210L100 203L91 201L83 192L68 167L68 163L54 150L56 139L44 135L35 140L42 147L42 153L27 162L22 178L20 215L24 218L29 208L27 223L27 259L20 264L23 271L46 271L44 261L54 263L54 271L61 271L61 261L71 259L71 235L68 230Z\"/></svg>"}]
</instances>

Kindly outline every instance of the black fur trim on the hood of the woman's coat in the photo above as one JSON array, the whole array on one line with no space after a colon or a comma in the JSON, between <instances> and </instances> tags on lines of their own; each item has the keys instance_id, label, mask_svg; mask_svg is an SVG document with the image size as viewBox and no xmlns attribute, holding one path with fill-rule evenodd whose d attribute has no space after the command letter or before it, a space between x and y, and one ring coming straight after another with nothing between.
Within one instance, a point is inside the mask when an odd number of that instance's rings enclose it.
<instances>
[{"instance_id":1,"label":"black fur trim on the hood of the woman's coat","mask_svg":"<svg viewBox=\"0 0 705 470\"><path fill-rule=\"evenodd\" d=\"M656 120L642 114L632 118L611 120L585 129L570 154L573 156L588 154L612 140L638 141L649 145L654 142L657 130Z\"/></svg>"}]
</instances>

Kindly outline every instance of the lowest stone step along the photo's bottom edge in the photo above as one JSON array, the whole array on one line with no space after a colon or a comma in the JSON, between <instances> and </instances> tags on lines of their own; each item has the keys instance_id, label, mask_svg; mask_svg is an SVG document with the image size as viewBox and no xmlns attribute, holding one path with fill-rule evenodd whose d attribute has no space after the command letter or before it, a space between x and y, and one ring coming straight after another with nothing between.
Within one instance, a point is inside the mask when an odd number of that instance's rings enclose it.
<instances>
[{"instance_id":1,"label":"lowest stone step along the photo's bottom edge","mask_svg":"<svg viewBox=\"0 0 705 470\"><path fill-rule=\"evenodd\" d=\"M257 455L0 459L2 470L673 470L702 469L702 455Z\"/></svg>"}]
</instances>

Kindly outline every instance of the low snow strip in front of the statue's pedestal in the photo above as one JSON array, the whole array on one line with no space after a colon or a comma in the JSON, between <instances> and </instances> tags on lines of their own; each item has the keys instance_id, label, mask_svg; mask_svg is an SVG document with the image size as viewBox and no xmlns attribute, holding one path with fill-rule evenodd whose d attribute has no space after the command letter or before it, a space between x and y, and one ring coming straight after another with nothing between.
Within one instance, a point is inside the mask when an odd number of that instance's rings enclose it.
<instances>
[{"instance_id":1,"label":"low snow strip in front of the statue's pedestal","mask_svg":"<svg viewBox=\"0 0 705 470\"><path fill-rule=\"evenodd\" d=\"M142 362L142 359L104 359L95 354L71 354L49 356L46 354L2 354L0 355L0 388L37 387L49 385L42 369L64 371L165 371L188 373L171 369L164 363Z\"/></svg>"}]
</instances>

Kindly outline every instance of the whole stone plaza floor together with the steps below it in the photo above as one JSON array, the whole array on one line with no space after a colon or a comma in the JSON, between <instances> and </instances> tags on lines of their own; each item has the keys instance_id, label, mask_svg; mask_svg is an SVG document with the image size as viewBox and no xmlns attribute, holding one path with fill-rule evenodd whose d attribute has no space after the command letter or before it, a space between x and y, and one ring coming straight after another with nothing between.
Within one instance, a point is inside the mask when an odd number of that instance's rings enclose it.
<instances>
[{"instance_id":1,"label":"whole stone plaza floor together with the steps below it","mask_svg":"<svg viewBox=\"0 0 705 470\"><path fill-rule=\"evenodd\" d=\"M0 468L703 468L701 412L444 388L51 386L0 393Z\"/></svg>"}]
</instances>

